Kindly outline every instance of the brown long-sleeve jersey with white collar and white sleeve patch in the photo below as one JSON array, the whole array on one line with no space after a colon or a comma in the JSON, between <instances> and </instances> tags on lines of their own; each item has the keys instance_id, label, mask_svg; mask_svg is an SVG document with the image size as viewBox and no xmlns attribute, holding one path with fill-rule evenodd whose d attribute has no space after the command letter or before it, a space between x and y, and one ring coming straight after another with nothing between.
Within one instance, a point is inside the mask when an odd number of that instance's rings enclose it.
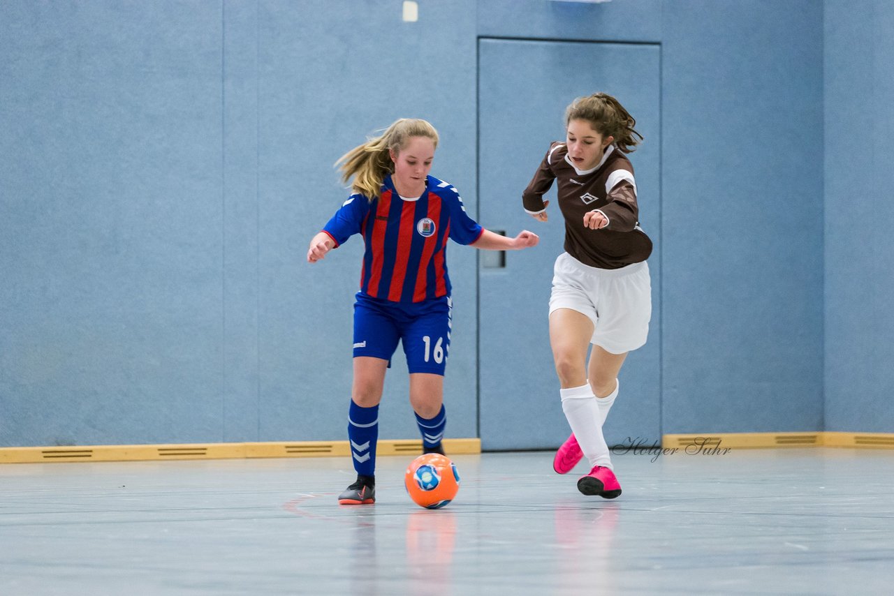
<instances>
[{"instance_id":1,"label":"brown long-sleeve jersey with white collar and white sleeve patch","mask_svg":"<svg viewBox=\"0 0 894 596\"><path fill-rule=\"evenodd\" d=\"M544 194L558 180L557 194L565 217L565 251L583 264L620 269L645 261L652 240L639 227L637 182L627 155L609 146L593 170L578 171L567 159L568 147L552 143L534 178L522 193L528 213L544 210ZM609 220L602 230L584 227L584 214L598 209Z\"/></svg>"}]
</instances>

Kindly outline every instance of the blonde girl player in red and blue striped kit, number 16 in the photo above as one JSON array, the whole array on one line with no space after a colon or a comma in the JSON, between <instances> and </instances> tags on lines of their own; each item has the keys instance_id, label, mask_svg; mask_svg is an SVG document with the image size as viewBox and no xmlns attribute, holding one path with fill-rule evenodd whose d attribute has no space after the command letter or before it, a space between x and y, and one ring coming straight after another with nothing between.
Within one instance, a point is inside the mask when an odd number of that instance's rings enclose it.
<instances>
[{"instance_id":1,"label":"blonde girl player in red and blue striped kit, number 16","mask_svg":"<svg viewBox=\"0 0 894 596\"><path fill-rule=\"evenodd\" d=\"M451 332L447 240L485 250L533 247L530 231L505 238L466 213L453 186L429 176L438 133L424 120L401 119L336 162L354 194L314 236L316 263L354 234L366 244L354 304L354 381L348 438L357 481L339 503L375 503L375 443L385 370L398 341L409 369L409 403L426 453L443 453L447 421L443 374Z\"/></svg>"}]
</instances>

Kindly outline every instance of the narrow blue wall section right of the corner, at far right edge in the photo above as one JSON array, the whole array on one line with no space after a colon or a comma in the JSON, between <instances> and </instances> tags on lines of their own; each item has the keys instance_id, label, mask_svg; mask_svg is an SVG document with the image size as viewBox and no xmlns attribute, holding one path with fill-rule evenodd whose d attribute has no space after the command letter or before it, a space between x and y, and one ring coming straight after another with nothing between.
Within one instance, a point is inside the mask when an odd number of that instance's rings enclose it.
<instances>
[{"instance_id":1,"label":"narrow blue wall section right of the corner, at far right edge","mask_svg":"<svg viewBox=\"0 0 894 596\"><path fill-rule=\"evenodd\" d=\"M894 4L827 0L826 430L894 431Z\"/></svg>"}]
</instances>

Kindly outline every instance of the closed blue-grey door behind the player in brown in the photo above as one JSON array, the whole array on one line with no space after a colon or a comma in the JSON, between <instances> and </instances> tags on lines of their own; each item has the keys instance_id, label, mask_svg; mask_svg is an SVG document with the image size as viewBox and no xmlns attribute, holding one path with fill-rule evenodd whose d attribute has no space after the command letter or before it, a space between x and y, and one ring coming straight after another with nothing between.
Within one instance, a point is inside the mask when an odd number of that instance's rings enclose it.
<instances>
[{"instance_id":1,"label":"closed blue-grey door behind the player in brown","mask_svg":"<svg viewBox=\"0 0 894 596\"><path fill-rule=\"evenodd\" d=\"M653 239L649 340L621 371L604 431L610 445L661 441L661 47L654 44L478 41L478 221L491 230L536 231L540 246L479 253L479 429L483 449L550 449L569 434L561 412L547 323L552 264L564 224L555 205L536 222L521 191L552 140L565 137L574 97L605 91L637 119L645 141L630 155L640 222Z\"/></svg>"}]
</instances>

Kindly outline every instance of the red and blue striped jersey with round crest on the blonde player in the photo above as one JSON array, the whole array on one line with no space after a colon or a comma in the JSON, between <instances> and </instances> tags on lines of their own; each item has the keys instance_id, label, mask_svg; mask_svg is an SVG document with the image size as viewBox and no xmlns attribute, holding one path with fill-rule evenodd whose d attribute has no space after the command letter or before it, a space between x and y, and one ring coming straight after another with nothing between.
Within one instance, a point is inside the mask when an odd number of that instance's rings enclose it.
<instances>
[{"instance_id":1,"label":"red and blue striped jersey with round crest on the blonde player","mask_svg":"<svg viewBox=\"0 0 894 596\"><path fill-rule=\"evenodd\" d=\"M336 247L363 234L361 292L412 303L450 295L447 239L472 244L484 228L468 216L460 192L448 182L428 176L422 196L406 200L387 176L379 197L351 195L323 231Z\"/></svg>"}]
</instances>

